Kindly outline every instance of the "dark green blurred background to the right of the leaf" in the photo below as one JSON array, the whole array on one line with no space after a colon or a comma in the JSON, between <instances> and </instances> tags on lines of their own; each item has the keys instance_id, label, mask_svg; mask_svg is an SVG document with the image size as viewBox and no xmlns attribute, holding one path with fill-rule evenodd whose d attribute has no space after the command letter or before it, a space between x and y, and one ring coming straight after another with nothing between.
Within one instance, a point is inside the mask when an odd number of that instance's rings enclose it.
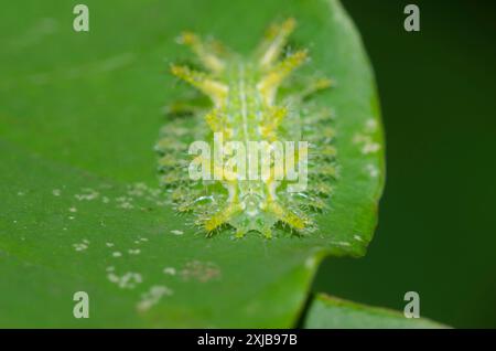
<instances>
[{"instance_id":1,"label":"dark green blurred background to the right of the leaf","mask_svg":"<svg viewBox=\"0 0 496 351\"><path fill-rule=\"evenodd\" d=\"M367 256L325 260L314 290L400 310L413 290L422 317L496 328L496 2L343 3L376 71L388 173Z\"/></svg>"}]
</instances>

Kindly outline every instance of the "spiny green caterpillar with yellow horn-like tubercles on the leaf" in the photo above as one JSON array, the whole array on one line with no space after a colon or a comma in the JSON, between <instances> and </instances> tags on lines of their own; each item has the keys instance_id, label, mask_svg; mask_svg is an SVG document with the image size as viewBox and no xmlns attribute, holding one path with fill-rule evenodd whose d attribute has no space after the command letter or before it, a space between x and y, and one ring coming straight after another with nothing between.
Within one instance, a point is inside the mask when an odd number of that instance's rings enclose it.
<instances>
[{"instance_id":1,"label":"spiny green caterpillar with yellow horn-like tubercles on the leaf","mask_svg":"<svg viewBox=\"0 0 496 351\"><path fill-rule=\"evenodd\" d=\"M332 113L312 104L310 98L331 87L332 82L322 77L287 79L308 61L305 50L284 50L294 26L293 19L272 24L249 57L191 32L179 39L190 46L207 72L172 65L172 74L211 102L195 95L190 100L171 104L170 120L162 128L155 149L160 155L161 182L174 208L180 213L193 213L195 224L207 235L228 227L235 230L237 237L250 231L271 237L274 228L310 233L315 228L314 214L326 208L331 183L336 178ZM240 163L233 166L233 152L215 150L218 137L226 146L238 141L247 148L251 141L261 141L261 151L272 155L263 158L261 164L268 166L269 172L255 180L240 177L241 172L237 172ZM206 140L214 156L202 152L194 155L192 161L190 146L195 140ZM293 157L285 157L283 164L277 162L276 152L271 153L273 142L288 146L291 140L305 140L309 148L292 150ZM257 160L249 153L247 168ZM289 191L291 162L299 164L300 172L302 168L308 170L305 189ZM206 173L214 174L213 179L192 179L188 177L192 167L203 167ZM258 167L257 163L255 168Z\"/></svg>"}]
</instances>

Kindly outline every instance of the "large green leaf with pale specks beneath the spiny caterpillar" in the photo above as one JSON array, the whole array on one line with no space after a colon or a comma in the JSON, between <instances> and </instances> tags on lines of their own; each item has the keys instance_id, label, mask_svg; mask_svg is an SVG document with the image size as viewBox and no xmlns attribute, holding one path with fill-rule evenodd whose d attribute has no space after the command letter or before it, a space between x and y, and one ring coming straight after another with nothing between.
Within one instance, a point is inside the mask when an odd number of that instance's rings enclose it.
<instances>
[{"instance_id":1,"label":"large green leaf with pale specks beneath the spiny caterpillar","mask_svg":"<svg viewBox=\"0 0 496 351\"><path fill-rule=\"evenodd\" d=\"M322 257L365 254L384 184L374 75L341 4L86 1L90 31L77 33L76 3L0 13L0 326L293 326ZM212 33L248 53L290 15L295 45L338 84L323 102L341 166L331 211L310 237L205 238L157 191L161 108L185 92L168 73L187 57L174 38ZM88 319L73 317L76 291Z\"/></svg>"}]
</instances>

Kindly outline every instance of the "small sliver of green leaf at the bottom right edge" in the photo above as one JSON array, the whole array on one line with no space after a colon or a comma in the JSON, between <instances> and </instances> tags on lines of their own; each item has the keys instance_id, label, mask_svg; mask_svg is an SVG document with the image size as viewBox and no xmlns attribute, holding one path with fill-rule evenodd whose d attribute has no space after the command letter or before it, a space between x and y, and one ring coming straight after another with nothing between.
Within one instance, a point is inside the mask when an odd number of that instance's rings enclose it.
<instances>
[{"instance_id":1,"label":"small sliver of green leaf at the bottom right edge","mask_svg":"<svg viewBox=\"0 0 496 351\"><path fill-rule=\"evenodd\" d=\"M406 318L386 308L370 307L319 294L305 320L308 329L438 329L449 328L427 318Z\"/></svg>"}]
</instances>

